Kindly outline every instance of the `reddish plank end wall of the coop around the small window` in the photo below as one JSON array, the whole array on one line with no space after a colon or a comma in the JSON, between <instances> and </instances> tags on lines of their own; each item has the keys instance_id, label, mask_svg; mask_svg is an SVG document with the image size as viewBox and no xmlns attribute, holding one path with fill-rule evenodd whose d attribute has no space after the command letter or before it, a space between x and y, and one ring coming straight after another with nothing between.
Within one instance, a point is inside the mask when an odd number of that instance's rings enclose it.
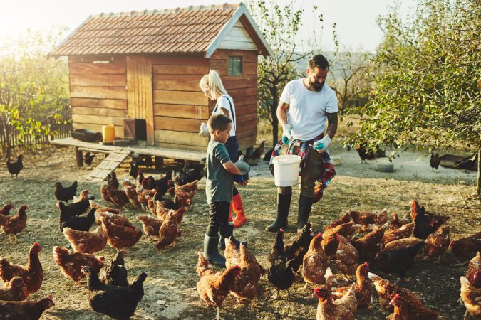
<instances>
[{"instance_id":1,"label":"reddish plank end wall of the coop around the small window","mask_svg":"<svg viewBox=\"0 0 481 320\"><path fill-rule=\"evenodd\" d=\"M242 75L227 75L228 57L232 55L242 57ZM224 87L234 99L237 140L239 149L245 151L256 144L257 136L257 53L248 50L217 50L210 58L209 68L219 72Z\"/></svg>"}]
</instances>

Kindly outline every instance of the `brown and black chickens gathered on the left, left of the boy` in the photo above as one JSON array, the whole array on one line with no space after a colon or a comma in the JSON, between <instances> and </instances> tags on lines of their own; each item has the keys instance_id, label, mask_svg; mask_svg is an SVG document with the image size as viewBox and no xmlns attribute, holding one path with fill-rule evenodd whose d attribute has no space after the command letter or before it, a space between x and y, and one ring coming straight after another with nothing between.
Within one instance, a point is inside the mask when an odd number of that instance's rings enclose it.
<instances>
[{"instance_id":1,"label":"brown and black chickens gathered on the left, left of the boy","mask_svg":"<svg viewBox=\"0 0 481 320\"><path fill-rule=\"evenodd\" d=\"M125 215L120 214L119 208L131 203L135 208L150 211L151 215L137 217L145 234L150 240L152 237L158 239L157 249L175 245L175 239L180 236L179 224L190 206L190 199L195 196L197 181L203 172L199 166L187 166L177 172L175 182L172 181L172 171L160 179L144 178L133 161L130 175L136 177L135 181L125 178L122 189L119 189L115 173L110 174L108 183L100 187L103 200L118 208L101 206L94 201L95 197L89 196L88 190L81 191L77 198L77 181L67 187L60 182L54 186L60 230L70 245L53 247L53 260L65 277L79 284L86 278L90 306L113 319L133 316L144 295L143 282L147 277L141 272L131 284L128 283L123 255L128 247L140 240L142 230L137 230ZM163 198L166 193L172 198ZM0 228L11 240L17 241L16 235L26 227L28 208L21 206L16 215L10 215L11 203L0 209ZM97 227L90 232L94 224ZM110 262L93 255L102 251L107 243L118 252ZM41 245L35 242L25 266L14 265L0 257L0 278L6 284L0 289L0 319L39 319L43 311L54 305L51 296L26 301L43 283L43 268L38 257L41 250Z\"/></svg>"}]
</instances>

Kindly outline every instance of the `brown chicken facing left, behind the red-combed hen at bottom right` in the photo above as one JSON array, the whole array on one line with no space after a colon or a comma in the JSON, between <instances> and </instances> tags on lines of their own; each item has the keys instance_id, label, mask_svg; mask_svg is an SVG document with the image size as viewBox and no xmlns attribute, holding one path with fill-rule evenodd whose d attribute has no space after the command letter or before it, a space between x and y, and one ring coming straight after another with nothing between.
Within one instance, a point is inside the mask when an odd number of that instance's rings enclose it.
<instances>
[{"instance_id":1,"label":"brown chicken facing left, behind the red-combed hen at bottom right","mask_svg":"<svg viewBox=\"0 0 481 320\"><path fill-rule=\"evenodd\" d=\"M431 320L438 318L438 312L423 306L421 299L419 299L418 296L416 296L413 292L410 292L408 289L391 284L391 282L388 280L378 277L376 274L371 272L368 273L368 278L373 281L374 287L376 287L381 309L388 312L393 312L394 307L393 305L389 304L389 302L391 302L396 294L399 294L408 302L409 316L412 317L412 319Z\"/></svg>"}]
</instances>

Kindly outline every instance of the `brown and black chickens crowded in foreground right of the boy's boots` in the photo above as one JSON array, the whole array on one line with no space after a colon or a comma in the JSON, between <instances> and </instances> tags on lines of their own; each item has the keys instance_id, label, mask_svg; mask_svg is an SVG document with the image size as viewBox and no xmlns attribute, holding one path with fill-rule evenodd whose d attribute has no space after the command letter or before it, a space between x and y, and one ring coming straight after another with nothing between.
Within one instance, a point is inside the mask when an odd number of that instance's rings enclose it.
<instances>
[{"instance_id":1,"label":"brown and black chickens crowded in foreground right of the boy's boots","mask_svg":"<svg viewBox=\"0 0 481 320\"><path fill-rule=\"evenodd\" d=\"M338 220L314 233L307 223L294 238L284 243L284 230L277 233L271 252L267 256L267 279L279 292L294 283L299 274L306 283L321 285L314 290L318 302L317 319L354 319L357 309L371 307L372 286L376 288L381 309L392 312L388 319L437 319L438 313L423 306L422 300L408 289L398 286L415 262L424 255L425 260L439 262L443 252L450 247L462 260L470 260L466 277L461 277L461 299L466 314L476 319L481 316L481 232L467 238L450 240L450 217L429 213L417 201L411 202L410 218L400 220L396 213L388 222L387 210L368 213L349 210ZM354 235L356 233L356 235ZM357 236L359 233L366 235ZM421 253L421 248L425 248ZM254 300L257 282L265 270L255 257L241 245L239 250L226 240L224 255L227 270L215 272L202 254L199 254L197 274L200 282L197 291L208 305L219 308L229 292L240 300ZM353 284L340 284L328 265L336 260L338 271L356 274ZM386 273L395 273L399 279L391 284L387 279L369 271L370 265ZM345 277L344 277L345 278ZM346 278L345 278L346 279Z\"/></svg>"}]
</instances>

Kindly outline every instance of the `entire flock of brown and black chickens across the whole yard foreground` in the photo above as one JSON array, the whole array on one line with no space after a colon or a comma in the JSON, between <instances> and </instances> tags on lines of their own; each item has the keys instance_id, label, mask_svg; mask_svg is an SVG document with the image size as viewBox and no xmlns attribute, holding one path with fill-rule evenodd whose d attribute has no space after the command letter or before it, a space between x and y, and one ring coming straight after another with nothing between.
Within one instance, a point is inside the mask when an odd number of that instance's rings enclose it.
<instances>
[{"instance_id":1,"label":"entire flock of brown and black chickens across the whole yard foreground","mask_svg":"<svg viewBox=\"0 0 481 320\"><path fill-rule=\"evenodd\" d=\"M142 230L137 230L120 209L133 206L150 212L136 217L145 235L151 241L155 238L159 250L175 246L175 240L181 235L179 225L195 196L197 181L204 173L202 166L190 166L175 175L169 171L155 179L144 177L133 161L129 174L135 181L125 178L119 183L113 173L100 187L103 201L112 203L115 208L101 206L89 196L88 190L81 191L77 198L77 182L68 187L57 182L54 186L60 212L59 227L70 245L53 247L53 259L61 273L74 282L86 278L91 308L113 319L133 316L144 295L143 282L147 277L141 272L131 284L128 283L123 255L138 242ZM28 208L21 206L17 215L10 215L11 203L0 209L0 228L11 240L16 241L16 235L26 227ZM348 210L326 226L323 233L314 232L307 223L284 242L284 230L280 230L267 255L265 269L247 247L241 244L237 248L226 239L227 270L214 270L199 253L197 292L208 306L217 307L217 319L220 319L220 308L229 293L239 303L255 305L259 279L264 274L276 289L272 299L280 299L281 291L287 291L289 299L289 288L296 277L301 277L306 289L309 285L319 286L313 294L318 299L318 320L348 320L354 319L357 309L371 307L374 285L381 309L392 313L388 319L437 319L436 311L423 306L415 293L398 286L398 282L409 272L416 257L422 255L425 260L439 262L443 252L450 248L461 260L469 261L465 277L460 279L460 295L466 315L480 319L481 232L450 240L449 218L428 212L415 200L411 202L410 219L400 219L393 213L390 223L386 209L379 213ZM96 228L91 232L94 224ZM110 262L94 255L107 243L118 251ZM41 250L41 245L35 242L29 250L26 266L0 258L0 278L6 284L0 289L0 319L38 319L43 311L54 305L51 296L26 301L43 282L38 258ZM334 270L338 274L331 270L332 261L336 262ZM398 274L399 279L392 284L369 272L370 268ZM354 274L356 282L349 284L346 276Z\"/></svg>"}]
</instances>

